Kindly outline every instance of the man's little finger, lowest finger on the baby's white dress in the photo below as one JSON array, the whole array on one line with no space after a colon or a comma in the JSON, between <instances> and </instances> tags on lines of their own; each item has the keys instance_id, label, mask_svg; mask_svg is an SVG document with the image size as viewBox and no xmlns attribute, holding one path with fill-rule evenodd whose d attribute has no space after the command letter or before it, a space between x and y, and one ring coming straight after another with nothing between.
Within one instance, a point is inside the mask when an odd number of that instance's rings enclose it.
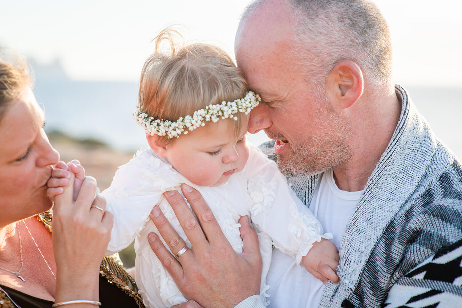
<instances>
[{"instance_id":1,"label":"man's little finger, lowest finger on the baby's white dress","mask_svg":"<svg viewBox=\"0 0 462 308\"><path fill-rule=\"evenodd\" d=\"M167 248L165 248L164 243L155 233L150 233L147 238L152 251L156 254L157 258L160 260L167 272L169 272L173 280L175 282L181 282L183 280L184 273L178 260L170 254ZM187 252L191 253L190 251ZM186 256L184 254L180 256L181 259L185 259L185 257Z\"/></svg>"}]
</instances>

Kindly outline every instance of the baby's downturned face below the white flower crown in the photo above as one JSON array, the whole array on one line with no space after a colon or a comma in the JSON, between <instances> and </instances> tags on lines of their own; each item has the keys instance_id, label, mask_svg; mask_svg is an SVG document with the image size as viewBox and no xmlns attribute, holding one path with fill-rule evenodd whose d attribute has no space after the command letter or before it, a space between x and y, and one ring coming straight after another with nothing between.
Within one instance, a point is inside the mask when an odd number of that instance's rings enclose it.
<instances>
[{"instance_id":1,"label":"baby's downturned face below the white flower crown","mask_svg":"<svg viewBox=\"0 0 462 308\"><path fill-rule=\"evenodd\" d=\"M247 122L236 142L231 119L208 123L167 145L166 158L189 181L199 186L219 186L241 171L249 158Z\"/></svg>"}]
</instances>

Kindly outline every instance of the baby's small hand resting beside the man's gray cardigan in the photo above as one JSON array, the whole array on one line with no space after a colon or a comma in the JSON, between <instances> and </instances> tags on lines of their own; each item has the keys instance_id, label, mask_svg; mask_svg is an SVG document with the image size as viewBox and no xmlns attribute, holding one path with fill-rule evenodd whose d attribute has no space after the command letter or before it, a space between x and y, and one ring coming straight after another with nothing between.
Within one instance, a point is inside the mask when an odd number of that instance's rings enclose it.
<instances>
[{"instance_id":1,"label":"baby's small hand resting beside the man's gray cardigan","mask_svg":"<svg viewBox=\"0 0 462 308\"><path fill-rule=\"evenodd\" d=\"M339 251L335 244L325 238L321 242L314 242L308 254L302 258L305 269L314 277L327 284L329 279L339 282L337 266L339 265Z\"/></svg>"}]
</instances>

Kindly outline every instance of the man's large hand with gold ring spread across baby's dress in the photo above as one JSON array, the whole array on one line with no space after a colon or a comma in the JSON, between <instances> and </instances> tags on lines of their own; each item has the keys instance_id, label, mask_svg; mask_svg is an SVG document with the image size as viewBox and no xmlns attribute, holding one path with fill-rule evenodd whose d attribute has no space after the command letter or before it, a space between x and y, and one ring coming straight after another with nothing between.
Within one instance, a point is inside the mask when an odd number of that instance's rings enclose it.
<instances>
[{"instance_id":1,"label":"man's large hand with gold ring spread across baby's dress","mask_svg":"<svg viewBox=\"0 0 462 308\"><path fill-rule=\"evenodd\" d=\"M203 307L234 307L245 298L260 294L261 255L258 237L249 219L239 219L243 253L237 254L201 194L185 184L181 189L197 220L178 192L165 192L164 196L191 242L191 249L177 260L158 236L148 235L152 250L179 290ZM186 246L157 205L150 217L173 254Z\"/></svg>"}]
</instances>

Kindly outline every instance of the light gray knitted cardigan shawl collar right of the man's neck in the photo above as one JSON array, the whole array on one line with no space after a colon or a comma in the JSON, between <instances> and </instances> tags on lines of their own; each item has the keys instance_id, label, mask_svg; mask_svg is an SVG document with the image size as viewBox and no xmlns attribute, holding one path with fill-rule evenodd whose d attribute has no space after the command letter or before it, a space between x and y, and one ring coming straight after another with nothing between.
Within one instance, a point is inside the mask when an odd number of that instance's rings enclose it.
<instances>
[{"instance_id":1,"label":"light gray knitted cardigan shawl collar right of the man's neck","mask_svg":"<svg viewBox=\"0 0 462 308\"><path fill-rule=\"evenodd\" d=\"M343 233L339 247L340 283L328 284L320 307L340 307L342 300L352 294L377 240L393 217L405 210L413 195L454 160L453 154L435 138L407 92L396 85L395 93L402 103L398 125Z\"/></svg>"}]
</instances>

